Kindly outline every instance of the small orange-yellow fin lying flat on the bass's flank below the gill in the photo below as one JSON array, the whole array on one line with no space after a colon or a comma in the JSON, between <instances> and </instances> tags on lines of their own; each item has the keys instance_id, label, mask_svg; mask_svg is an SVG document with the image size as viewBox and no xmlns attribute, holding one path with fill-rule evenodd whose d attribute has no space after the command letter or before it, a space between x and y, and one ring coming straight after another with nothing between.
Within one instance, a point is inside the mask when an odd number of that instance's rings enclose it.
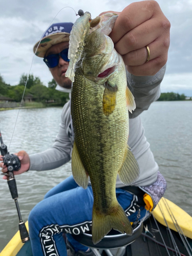
<instances>
[{"instance_id":1,"label":"small orange-yellow fin lying flat on the bass's flank below the gill","mask_svg":"<svg viewBox=\"0 0 192 256\"><path fill-rule=\"evenodd\" d=\"M110 86L105 82L105 89L103 93L103 114L109 116L115 110L116 105L117 86Z\"/></svg>"}]
</instances>

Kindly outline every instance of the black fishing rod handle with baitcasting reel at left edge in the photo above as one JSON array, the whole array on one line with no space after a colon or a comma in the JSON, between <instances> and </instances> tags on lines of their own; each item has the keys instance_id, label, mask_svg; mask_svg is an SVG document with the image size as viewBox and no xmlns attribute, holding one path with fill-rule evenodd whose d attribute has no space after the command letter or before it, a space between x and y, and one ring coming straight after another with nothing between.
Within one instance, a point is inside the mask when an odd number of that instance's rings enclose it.
<instances>
[{"instance_id":1,"label":"black fishing rod handle with baitcasting reel at left edge","mask_svg":"<svg viewBox=\"0 0 192 256\"><path fill-rule=\"evenodd\" d=\"M26 225L22 220L22 215L20 214L20 209L18 205L18 193L17 193L17 186L16 186L16 180L13 174L13 171L18 171L20 169L20 160L19 158L14 154L9 154L7 150L7 146L3 142L2 134L0 131L0 151L3 156L4 164L7 165L8 171L6 173L2 173L2 175L7 176L7 183L9 185L9 190L12 196L12 199L15 201L19 224L18 228L20 231L20 239L23 243L29 241L29 233L27 231Z\"/></svg>"}]
</instances>

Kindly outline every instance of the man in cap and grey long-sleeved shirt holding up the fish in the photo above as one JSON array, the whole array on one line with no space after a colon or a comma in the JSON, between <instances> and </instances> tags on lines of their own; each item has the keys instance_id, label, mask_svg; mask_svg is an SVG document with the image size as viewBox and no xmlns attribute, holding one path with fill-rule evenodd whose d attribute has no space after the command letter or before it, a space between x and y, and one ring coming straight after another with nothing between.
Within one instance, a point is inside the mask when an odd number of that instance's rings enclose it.
<instances>
[{"instance_id":1,"label":"man in cap and grey long-sleeved shirt holding up the fish","mask_svg":"<svg viewBox=\"0 0 192 256\"><path fill-rule=\"evenodd\" d=\"M141 174L133 186L125 187L118 179L116 195L130 221L134 222L138 220L138 210L140 218L144 218L146 209L154 209L166 188L166 182L159 173L150 145L144 137L139 114L147 110L160 96L160 83L165 73L169 46L170 24L155 1L133 3L118 15L110 36L116 50L123 56L127 69L127 86L136 101L137 108L130 114L129 145L139 163ZM68 92L71 89L71 81L65 77L65 73L69 66L67 49L71 27L72 24L69 23L52 25L39 46L37 42L34 47L36 55L44 57L58 84L57 88ZM15 175L27 170L53 169L71 159L73 131L70 113L68 102L63 107L59 133L52 148L31 156L25 151L18 152L22 166ZM0 166L3 167L3 172L7 171L3 163ZM139 201L133 194L138 196ZM138 208L131 215L132 203L137 203ZM79 187L72 176L51 189L45 199L32 209L29 216L34 256L49 255L51 252L53 255L66 256L62 232L67 233L68 255L93 255L88 247L77 243L70 234L90 229L92 206L92 187Z\"/></svg>"}]
</instances>

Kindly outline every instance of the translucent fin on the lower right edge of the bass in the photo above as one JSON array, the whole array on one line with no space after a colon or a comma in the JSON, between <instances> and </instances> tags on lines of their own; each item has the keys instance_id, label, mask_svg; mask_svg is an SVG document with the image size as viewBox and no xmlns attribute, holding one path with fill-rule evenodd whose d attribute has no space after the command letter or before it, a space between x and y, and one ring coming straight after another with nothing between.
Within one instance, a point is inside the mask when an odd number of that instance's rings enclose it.
<instances>
[{"instance_id":1,"label":"translucent fin on the lower right edge of the bass","mask_svg":"<svg viewBox=\"0 0 192 256\"><path fill-rule=\"evenodd\" d=\"M137 163L130 147L127 145L125 160L118 172L119 179L125 185L130 185L135 182L140 175L139 164Z\"/></svg>"}]
</instances>

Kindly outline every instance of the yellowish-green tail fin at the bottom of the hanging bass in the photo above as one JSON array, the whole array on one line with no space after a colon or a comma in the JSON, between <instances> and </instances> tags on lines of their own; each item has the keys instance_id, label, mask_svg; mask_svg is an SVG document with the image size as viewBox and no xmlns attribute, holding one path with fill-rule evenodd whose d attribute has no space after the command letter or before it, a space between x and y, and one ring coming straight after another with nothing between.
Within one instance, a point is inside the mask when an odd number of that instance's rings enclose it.
<instances>
[{"instance_id":1,"label":"yellowish-green tail fin at the bottom of the hanging bass","mask_svg":"<svg viewBox=\"0 0 192 256\"><path fill-rule=\"evenodd\" d=\"M130 236L133 234L131 223L118 202L108 212L107 214L97 212L93 205L92 240L94 244L101 241L112 228L123 234L126 233Z\"/></svg>"}]
</instances>

